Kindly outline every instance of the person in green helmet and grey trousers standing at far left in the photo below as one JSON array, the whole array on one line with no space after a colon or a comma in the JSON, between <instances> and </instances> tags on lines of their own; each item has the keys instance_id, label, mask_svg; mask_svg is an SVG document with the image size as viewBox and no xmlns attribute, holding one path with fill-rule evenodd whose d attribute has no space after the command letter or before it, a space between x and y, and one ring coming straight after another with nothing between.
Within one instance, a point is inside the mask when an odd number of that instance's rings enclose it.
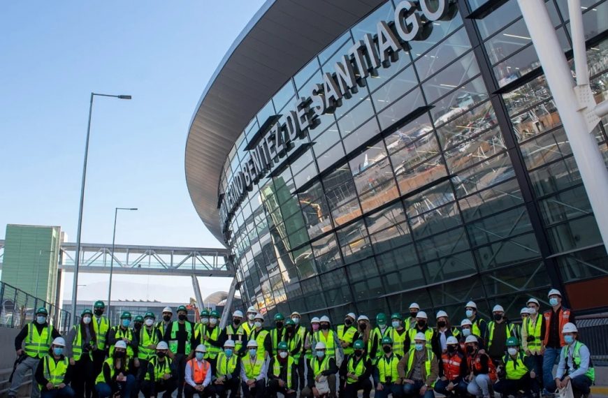
<instances>
[{"instance_id":1,"label":"person in green helmet and grey trousers standing at far left","mask_svg":"<svg viewBox=\"0 0 608 398\"><path fill-rule=\"evenodd\" d=\"M13 371L13 381L8 389L8 397L16 397L23 378L28 371L34 373L38 362L47 354L53 339L61 337L55 327L48 323L48 311L41 307L36 310L34 320L27 323L15 337L17 367ZM40 397L38 384L31 383L31 397Z\"/></svg>"}]
</instances>

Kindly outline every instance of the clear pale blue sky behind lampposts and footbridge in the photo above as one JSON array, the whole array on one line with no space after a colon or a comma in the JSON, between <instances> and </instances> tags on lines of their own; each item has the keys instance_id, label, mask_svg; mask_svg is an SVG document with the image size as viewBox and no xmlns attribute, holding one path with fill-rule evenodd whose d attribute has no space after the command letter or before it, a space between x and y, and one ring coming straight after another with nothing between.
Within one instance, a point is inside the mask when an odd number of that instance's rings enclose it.
<instances>
[{"instance_id":1,"label":"clear pale blue sky behind lampposts and footbridge","mask_svg":"<svg viewBox=\"0 0 608 398\"><path fill-rule=\"evenodd\" d=\"M95 100L82 241L111 242L114 208L138 207L120 214L117 243L219 246L188 195L186 136L208 80L262 3L0 2L0 239L7 223L22 223L61 226L75 241L95 91L133 100ZM94 300L107 279L82 275L79 297ZM121 281L133 282L117 277L118 290ZM146 298L166 280L135 282L113 297ZM188 278L172 285L185 289L147 298L192 295ZM201 281L203 295L227 287Z\"/></svg>"}]
</instances>

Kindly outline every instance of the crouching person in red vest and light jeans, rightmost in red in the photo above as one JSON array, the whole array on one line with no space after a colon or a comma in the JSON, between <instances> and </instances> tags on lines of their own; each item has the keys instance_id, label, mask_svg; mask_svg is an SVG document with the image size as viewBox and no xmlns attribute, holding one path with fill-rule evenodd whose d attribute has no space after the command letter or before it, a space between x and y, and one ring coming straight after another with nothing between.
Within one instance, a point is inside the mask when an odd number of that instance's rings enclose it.
<instances>
[{"instance_id":1,"label":"crouching person in red vest and light jeans, rightmost in red","mask_svg":"<svg viewBox=\"0 0 608 398\"><path fill-rule=\"evenodd\" d=\"M496 367L490 357L480 350L479 341L474 335L465 340L467 351L467 367L470 374L466 380L469 382L467 391L473 397L491 397L492 385L498 378Z\"/></svg>"}]
</instances>

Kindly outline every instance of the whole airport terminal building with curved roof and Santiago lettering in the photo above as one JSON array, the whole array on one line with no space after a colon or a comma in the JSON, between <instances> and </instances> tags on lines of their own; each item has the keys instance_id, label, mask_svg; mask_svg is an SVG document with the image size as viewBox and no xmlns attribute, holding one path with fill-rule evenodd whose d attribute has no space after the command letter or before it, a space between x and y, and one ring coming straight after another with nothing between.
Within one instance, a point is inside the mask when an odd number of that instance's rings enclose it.
<instances>
[{"instance_id":1,"label":"whole airport terminal building with curved roof and Santiago lettering","mask_svg":"<svg viewBox=\"0 0 608 398\"><path fill-rule=\"evenodd\" d=\"M567 0L547 9L572 57ZM583 0L608 98L608 0ZM608 119L593 133L608 163ZM516 0L268 0L196 106L187 186L263 313L608 307L608 256ZM602 290L603 288L603 290Z\"/></svg>"}]
</instances>

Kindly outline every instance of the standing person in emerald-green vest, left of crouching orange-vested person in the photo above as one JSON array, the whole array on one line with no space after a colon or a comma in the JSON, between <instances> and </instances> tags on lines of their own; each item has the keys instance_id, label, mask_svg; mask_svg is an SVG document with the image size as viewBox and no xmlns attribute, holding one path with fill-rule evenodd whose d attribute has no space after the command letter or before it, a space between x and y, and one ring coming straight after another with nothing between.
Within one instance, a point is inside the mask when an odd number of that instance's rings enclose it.
<instances>
[{"instance_id":1,"label":"standing person in emerald-green vest, left of crouching orange-vested person","mask_svg":"<svg viewBox=\"0 0 608 398\"><path fill-rule=\"evenodd\" d=\"M178 372L178 398L182 398L187 358L196 344L194 324L188 320L188 309L186 306L180 305L176 312L178 320L172 320L167 325L163 341L169 345L168 355Z\"/></svg>"}]
</instances>

